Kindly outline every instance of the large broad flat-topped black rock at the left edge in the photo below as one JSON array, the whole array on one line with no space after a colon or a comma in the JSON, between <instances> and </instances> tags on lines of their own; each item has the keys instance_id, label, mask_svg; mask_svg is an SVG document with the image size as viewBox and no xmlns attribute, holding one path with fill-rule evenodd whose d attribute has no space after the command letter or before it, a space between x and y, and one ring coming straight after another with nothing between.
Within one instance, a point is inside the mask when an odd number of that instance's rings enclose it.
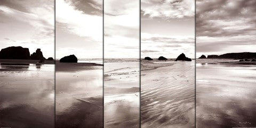
<instances>
[{"instance_id":1,"label":"large broad flat-topped black rock at the left edge","mask_svg":"<svg viewBox=\"0 0 256 128\"><path fill-rule=\"evenodd\" d=\"M6 47L0 51L0 59L30 59L30 53L28 48L21 46Z\"/></svg>"}]
</instances>

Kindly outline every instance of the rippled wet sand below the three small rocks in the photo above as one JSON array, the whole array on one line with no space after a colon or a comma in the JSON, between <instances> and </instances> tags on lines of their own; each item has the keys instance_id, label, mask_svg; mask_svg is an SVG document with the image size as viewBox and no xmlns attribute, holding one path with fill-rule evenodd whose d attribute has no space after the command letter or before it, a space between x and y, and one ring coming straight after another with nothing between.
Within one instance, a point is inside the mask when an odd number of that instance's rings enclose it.
<instances>
[{"instance_id":1,"label":"rippled wet sand below the three small rocks","mask_svg":"<svg viewBox=\"0 0 256 128\"><path fill-rule=\"evenodd\" d=\"M195 127L195 63L156 63L141 69L141 127Z\"/></svg>"}]
</instances>

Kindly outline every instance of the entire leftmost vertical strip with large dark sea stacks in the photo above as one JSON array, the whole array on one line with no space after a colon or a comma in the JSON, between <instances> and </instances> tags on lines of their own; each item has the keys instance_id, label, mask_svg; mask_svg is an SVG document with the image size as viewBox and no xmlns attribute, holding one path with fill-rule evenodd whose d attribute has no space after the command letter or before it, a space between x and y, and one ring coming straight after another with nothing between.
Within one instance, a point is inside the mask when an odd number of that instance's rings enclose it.
<instances>
[{"instance_id":1,"label":"entire leftmost vertical strip with large dark sea stacks","mask_svg":"<svg viewBox=\"0 0 256 128\"><path fill-rule=\"evenodd\" d=\"M0 1L0 127L54 127L54 0Z\"/></svg>"}]
</instances>

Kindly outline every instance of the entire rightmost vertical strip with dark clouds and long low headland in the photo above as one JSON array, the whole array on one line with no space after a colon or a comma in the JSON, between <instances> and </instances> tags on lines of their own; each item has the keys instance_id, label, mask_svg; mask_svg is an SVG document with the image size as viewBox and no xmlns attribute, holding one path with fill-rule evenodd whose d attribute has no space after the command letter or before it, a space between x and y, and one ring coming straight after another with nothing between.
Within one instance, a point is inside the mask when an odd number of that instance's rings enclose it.
<instances>
[{"instance_id":1,"label":"entire rightmost vertical strip with dark clouds and long low headland","mask_svg":"<svg viewBox=\"0 0 256 128\"><path fill-rule=\"evenodd\" d=\"M256 1L196 1L196 127L256 126Z\"/></svg>"}]
</instances>

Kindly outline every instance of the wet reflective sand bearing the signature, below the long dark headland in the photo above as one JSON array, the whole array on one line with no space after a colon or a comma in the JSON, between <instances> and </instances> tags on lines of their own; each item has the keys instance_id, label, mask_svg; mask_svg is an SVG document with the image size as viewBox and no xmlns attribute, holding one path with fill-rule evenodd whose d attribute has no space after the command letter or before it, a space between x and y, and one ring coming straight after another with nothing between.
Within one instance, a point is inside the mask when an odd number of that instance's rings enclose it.
<instances>
[{"instance_id":1,"label":"wet reflective sand bearing the signature, below the long dark headland","mask_svg":"<svg viewBox=\"0 0 256 128\"><path fill-rule=\"evenodd\" d=\"M256 126L256 66L196 66L196 127Z\"/></svg>"}]
</instances>

